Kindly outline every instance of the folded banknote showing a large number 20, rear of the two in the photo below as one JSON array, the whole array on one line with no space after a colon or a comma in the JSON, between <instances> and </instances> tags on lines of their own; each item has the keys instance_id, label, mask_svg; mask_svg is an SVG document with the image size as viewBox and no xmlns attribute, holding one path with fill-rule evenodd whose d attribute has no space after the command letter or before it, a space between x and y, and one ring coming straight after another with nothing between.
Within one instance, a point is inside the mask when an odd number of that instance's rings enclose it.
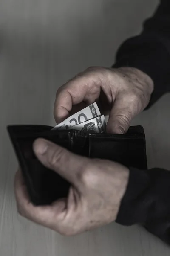
<instances>
[{"instance_id":1,"label":"folded banknote showing a large number 20, rear of the two","mask_svg":"<svg viewBox=\"0 0 170 256\"><path fill-rule=\"evenodd\" d=\"M100 115L101 113L97 103L95 102L74 115L69 116L67 119L65 119L65 121L61 122L59 125L56 125L52 130L72 129L73 126L79 125L82 122L86 122Z\"/></svg>"}]
</instances>

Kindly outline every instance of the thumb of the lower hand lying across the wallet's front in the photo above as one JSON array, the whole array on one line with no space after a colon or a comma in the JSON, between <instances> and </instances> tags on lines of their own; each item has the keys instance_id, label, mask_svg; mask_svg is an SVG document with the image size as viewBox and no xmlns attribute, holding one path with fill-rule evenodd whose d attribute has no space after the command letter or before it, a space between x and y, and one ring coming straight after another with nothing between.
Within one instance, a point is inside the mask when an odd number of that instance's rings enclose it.
<instances>
[{"instance_id":1,"label":"thumb of the lower hand lying across the wallet's front","mask_svg":"<svg viewBox=\"0 0 170 256\"><path fill-rule=\"evenodd\" d=\"M87 158L73 154L44 139L37 139L34 142L34 152L46 167L54 170L73 185L81 186L79 178L88 161Z\"/></svg>"}]
</instances>

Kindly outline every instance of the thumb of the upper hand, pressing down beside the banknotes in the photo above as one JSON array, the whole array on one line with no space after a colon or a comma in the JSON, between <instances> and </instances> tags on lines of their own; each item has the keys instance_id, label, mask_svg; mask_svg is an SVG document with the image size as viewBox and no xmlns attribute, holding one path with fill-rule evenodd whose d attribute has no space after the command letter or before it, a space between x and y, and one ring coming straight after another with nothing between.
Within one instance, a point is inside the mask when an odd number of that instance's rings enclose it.
<instances>
[{"instance_id":1,"label":"thumb of the upper hand, pressing down beside the banknotes","mask_svg":"<svg viewBox=\"0 0 170 256\"><path fill-rule=\"evenodd\" d=\"M120 94L111 109L106 130L108 133L125 134L133 118L140 112L141 103L135 96Z\"/></svg>"}]
</instances>

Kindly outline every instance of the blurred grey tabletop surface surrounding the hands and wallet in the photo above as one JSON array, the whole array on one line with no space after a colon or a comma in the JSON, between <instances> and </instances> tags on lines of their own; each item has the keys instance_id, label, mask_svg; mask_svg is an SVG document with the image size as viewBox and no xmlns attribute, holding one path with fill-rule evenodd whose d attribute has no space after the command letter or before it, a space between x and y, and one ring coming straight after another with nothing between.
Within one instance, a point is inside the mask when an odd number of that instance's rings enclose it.
<instances>
[{"instance_id":1,"label":"blurred grey tabletop surface surrounding the hands and wallet","mask_svg":"<svg viewBox=\"0 0 170 256\"><path fill-rule=\"evenodd\" d=\"M17 161L8 124L54 125L57 88L88 66L111 66L119 44L142 29L158 0L0 1L0 256L167 256L139 226L106 227L65 238L17 215ZM170 96L140 114L149 167L170 169ZM170 133L169 133L170 135Z\"/></svg>"}]
</instances>

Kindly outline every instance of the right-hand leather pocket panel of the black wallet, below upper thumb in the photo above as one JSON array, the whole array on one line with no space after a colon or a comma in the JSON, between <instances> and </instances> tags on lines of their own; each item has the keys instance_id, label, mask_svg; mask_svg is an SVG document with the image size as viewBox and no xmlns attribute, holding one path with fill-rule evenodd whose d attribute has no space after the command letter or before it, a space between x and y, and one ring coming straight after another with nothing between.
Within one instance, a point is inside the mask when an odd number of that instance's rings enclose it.
<instances>
[{"instance_id":1,"label":"right-hand leather pocket panel of the black wallet, below upper thumb","mask_svg":"<svg viewBox=\"0 0 170 256\"><path fill-rule=\"evenodd\" d=\"M122 163L127 167L147 169L143 134L90 134L89 157Z\"/></svg>"}]
</instances>

